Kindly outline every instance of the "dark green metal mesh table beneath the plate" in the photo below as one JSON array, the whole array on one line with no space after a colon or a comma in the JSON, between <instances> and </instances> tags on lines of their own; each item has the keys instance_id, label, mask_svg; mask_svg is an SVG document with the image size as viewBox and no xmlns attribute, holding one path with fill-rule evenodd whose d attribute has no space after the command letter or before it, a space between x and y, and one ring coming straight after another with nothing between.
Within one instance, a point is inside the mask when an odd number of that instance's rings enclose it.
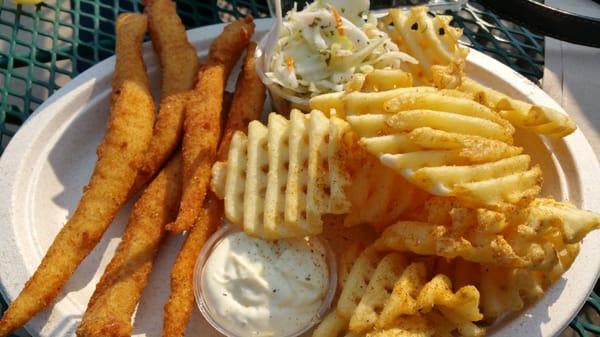
<instances>
[{"instance_id":1,"label":"dark green metal mesh table beneath the plate","mask_svg":"<svg viewBox=\"0 0 600 337\"><path fill-rule=\"evenodd\" d=\"M269 16L266 0L180 0L177 6L188 29L248 14ZM46 98L113 54L117 15L142 9L139 0L47 0L36 6L0 0L0 155ZM544 67L542 36L503 20L477 1L452 15L454 25L464 29L466 45L539 83ZM598 294L600 285L564 336L600 335ZM0 313L5 308L0 296ZM14 336L29 334L21 329Z\"/></svg>"}]
</instances>

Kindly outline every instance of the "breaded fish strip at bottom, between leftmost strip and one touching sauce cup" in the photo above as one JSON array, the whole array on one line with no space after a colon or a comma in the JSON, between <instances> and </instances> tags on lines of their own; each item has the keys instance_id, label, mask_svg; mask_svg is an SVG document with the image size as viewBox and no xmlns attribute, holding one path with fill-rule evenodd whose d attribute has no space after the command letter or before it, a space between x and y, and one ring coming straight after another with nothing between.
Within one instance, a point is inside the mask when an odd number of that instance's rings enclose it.
<instances>
[{"instance_id":1,"label":"breaded fish strip at bottom, between leftmost strip and one touching sauce cup","mask_svg":"<svg viewBox=\"0 0 600 337\"><path fill-rule=\"evenodd\" d=\"M146 287L164 226L177 215L181 179L178 153L135 203L123 240L96 285L77 336L131 336L131 316Z\"/></svg>"}]
</instances>

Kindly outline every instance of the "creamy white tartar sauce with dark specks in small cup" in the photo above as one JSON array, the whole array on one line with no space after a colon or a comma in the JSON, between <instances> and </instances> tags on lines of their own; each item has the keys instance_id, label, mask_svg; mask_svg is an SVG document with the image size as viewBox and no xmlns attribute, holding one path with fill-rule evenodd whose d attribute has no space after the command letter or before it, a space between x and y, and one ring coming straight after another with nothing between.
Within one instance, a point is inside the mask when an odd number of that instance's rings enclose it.
<instances>
[{"instance_id":1,"label":"creamy white tartar sauce with dark specks in small cup","mask_svg":"<svg viewBox=\"0 0 600 337\"><path fill-rule=\"evenodd\" d=\"M227 235L206 260L202 291L212 318L237 336L287 336L306 326L329 282L326 250L315 240L275 242Z\"/></svg>"}]
</instances>

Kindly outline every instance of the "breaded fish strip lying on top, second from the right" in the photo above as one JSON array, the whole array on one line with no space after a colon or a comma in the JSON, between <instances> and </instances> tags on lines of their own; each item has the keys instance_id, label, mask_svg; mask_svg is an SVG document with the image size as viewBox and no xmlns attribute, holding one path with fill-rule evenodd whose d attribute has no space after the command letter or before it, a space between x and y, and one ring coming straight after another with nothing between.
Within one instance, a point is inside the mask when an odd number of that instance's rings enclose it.
<instances>
[{"instance_id":1,"label":"breaded fish strip lying on top, second from the right","mask_svg":"<svg viewBox=\"0 0 600 337\"><path fill-rule=\"evenodd\" d=\"M254 33L251 18L227 26L212 42L208 61L201 67L198 83L186 105L183 134L183 195L177 220L167 229L189 230L198 214L210 181L211 166L221 136L220 116L223 91L231 68Z\"/></svg>"}]
</instances>

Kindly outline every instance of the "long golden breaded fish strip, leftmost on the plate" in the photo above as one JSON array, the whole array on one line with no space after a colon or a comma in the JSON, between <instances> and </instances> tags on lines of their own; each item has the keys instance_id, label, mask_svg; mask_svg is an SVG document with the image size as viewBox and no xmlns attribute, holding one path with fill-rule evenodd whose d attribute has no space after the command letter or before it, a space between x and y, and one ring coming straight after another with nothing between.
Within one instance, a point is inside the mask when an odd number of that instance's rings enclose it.
<instances>
[{"instance_id":1,"label":"long golden breaded fish strip, leftmost on the plate","mask_svg":"<svg viewBox=\"0 0 600 337\"><path fill-rule=\"evenodd\" d=\"M117 19L113 104L98 147L98 162L72 218L0 320L0 336L7 336L54 300L127 201L154 122L154 103L141 56L146 25L141 14L123 14Z\"/></svg>"}]
</instances>

